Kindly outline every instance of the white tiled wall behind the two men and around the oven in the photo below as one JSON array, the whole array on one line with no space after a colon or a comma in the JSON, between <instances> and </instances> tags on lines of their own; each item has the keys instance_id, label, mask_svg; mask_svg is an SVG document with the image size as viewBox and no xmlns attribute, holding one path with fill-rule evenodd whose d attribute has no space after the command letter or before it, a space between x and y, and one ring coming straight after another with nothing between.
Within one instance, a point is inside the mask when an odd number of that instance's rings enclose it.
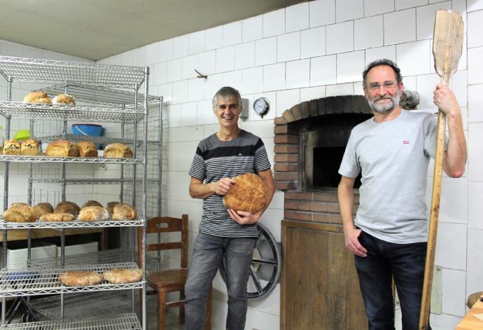
<instances>
[{"instance_id":1,"label":"white tiled wall behind the two men and around the oven","mask_svg":"<svg viewBox=\"0 0 483 330\"><path fill-rule=\"evenodd\" d=\"M435 329L454 329L465 314L465 297L481 290L478 280L483 272L479 253L483 247L483 0L309 1L99 62L146 62L153 67L151 92L166 101L169 162L163 169L168 190L164 213L188 212L194 240L202 211L200 200L188 195L188 168L200 139L218 129L211 109L218 88L232 85L248 99L248 119L240 126L262 137L272 164L273 118L309 99L362 94L361 71L377 58L398 62L405 88L419 92L421 107L435 110L432 91L440 78L431 52L438 8L460 11L468 23L460 71L451 82L463 110L468 170L461 179L443 180L436 256L443 267L442 314L431 315ZM18 52L15 46L6 46L6 51ZM208 78L195 78L193 69ZM253 100L261 96L271 104L264 118L251 109ZM283 193L277 191L261 220L276 238L282 217ZM218 277L215 287L214 329L223 329L226 295ZM269 298L249 305L246 329L279 328L278 287Z\"/></svg>"}]
</instances>

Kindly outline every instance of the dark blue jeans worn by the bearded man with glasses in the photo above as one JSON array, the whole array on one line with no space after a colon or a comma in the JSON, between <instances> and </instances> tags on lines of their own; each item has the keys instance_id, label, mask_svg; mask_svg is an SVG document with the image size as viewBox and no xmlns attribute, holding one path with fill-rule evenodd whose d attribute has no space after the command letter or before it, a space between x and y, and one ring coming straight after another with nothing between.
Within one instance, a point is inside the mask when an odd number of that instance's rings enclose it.
<instances>
[{"instance_id":1,"label":"dark blue jeans worn by the bearded man with glasses","mask_svg":"<svg viewBox=\"0 0 483 330\"><path fill-rule=\"evenodd\" d=\"M362 291L369 330L394 329L395 287L402 312L402 329L417 330L421 311L426 242L395 244L361 232L360 244L367 256L356 256L356 270Z\"/></svg>"}]
</instances>

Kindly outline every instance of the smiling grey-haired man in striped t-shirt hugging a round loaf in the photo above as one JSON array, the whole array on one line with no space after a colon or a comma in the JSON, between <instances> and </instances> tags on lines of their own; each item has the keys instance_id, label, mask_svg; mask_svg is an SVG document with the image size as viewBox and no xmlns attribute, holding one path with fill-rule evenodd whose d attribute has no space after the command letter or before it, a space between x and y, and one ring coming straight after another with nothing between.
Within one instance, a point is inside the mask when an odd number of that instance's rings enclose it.
<instances>
[{"instance_id":1,"label":"smiling grey-haired man in striped t-shirt hugging a round loaf","mask_svg":"<svg viewBox=\"0 0 483 330\"><path fill-rule=\"evenodd\" d=\"M203 139L190 169L190 196L203 199L199 227L185 287L186 329L202 329L205 303L211 282L226 259L228 317L226 329L244 329L247 309L246 286L253 248L258 238L256 222L268 207L275 191L265 146L259 137L241 130L238 118L241 97L238 90L223 87L213 98L213 111L220 130ZM225 195L233 177L258 174L267 185L265 209L251 214L226 209Z\"/></svg>"}]
</instances>

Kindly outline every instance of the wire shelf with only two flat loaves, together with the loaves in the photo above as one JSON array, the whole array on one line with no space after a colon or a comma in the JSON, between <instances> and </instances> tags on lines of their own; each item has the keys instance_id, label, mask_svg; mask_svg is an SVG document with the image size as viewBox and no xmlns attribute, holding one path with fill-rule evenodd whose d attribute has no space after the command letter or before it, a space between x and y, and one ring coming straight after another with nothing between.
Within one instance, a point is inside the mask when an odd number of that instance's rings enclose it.
<instances>
[{"instance_id":1,"label":"wire shelf with only two flat loaves, together with the loaves","mask_svg":"<svg viewBox=\"0 0 483 330\"><path fill-rule=\"evenodd\" d=\"M141 275L136 263L4 268L0 270L0 297L141 289Z\"/></svg>"}]
</instances>

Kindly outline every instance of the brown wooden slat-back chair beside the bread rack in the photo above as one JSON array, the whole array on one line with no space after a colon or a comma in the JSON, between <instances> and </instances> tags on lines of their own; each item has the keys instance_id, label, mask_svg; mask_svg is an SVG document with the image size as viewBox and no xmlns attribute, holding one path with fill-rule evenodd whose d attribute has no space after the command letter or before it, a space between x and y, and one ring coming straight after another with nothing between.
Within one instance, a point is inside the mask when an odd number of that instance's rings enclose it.
<instances>
[{"instance_id":1,"label":"brown wooden slat-back chair beside the bread rack","mask_svg":"<svg viewBox=\"0 0 483 330\"><path fill-rule=\"evenodd\" d=\"M188 214L183 214L181 219L162 216L151 218L146 224L146 241L149 234L181 232L181 242L146 243L146 252L181 249L181 268L165 269L146 273L146 280L150 287L158 291L158 330L166 329L166 308L179 307L179 323L184 324L184 287L188 276ZM138 260L139 266L143 265L142 258L142 228L137 230ZM179 291L179 301L167 303L168 292ZM142 304L141 304L142 308ZM205 329L211 329L211 289L207 301L207 316Z\"/></svg>"}]
</instances>

